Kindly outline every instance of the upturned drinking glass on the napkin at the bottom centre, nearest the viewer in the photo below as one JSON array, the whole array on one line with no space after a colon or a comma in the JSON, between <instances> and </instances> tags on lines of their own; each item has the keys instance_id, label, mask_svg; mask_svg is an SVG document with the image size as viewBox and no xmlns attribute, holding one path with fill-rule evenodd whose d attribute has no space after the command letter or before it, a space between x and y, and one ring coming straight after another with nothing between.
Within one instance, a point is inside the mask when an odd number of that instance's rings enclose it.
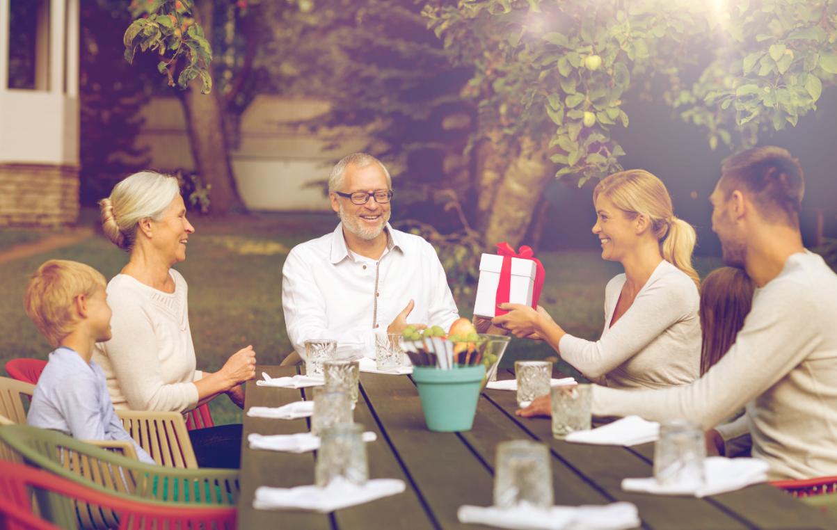
<instances>
[{"instance_id":1,"label":"upturned drinking glass on the napkin at the bottom centre, nearest the viewer","mask_svg":"<svg viewBox=\"0 0 837 530\"><path fill-rule=\"evenodd\" d=\"M530 440L501 442L494 469L494 506L509 508L521 502L552 506L552 462L547 445Z\"/></svg>"}]
</instances>

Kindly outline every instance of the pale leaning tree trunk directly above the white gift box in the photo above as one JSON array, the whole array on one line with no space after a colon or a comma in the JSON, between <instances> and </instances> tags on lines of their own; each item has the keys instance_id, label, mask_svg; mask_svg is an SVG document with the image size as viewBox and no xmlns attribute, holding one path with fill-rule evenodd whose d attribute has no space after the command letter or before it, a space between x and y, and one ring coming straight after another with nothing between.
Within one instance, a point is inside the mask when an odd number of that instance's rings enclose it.
<instances>
[{"instance_id":1,"label":"pale leaning tree trunk directly above the white gift box","mask_svg":"<svg viewBox=\"0 0 837 530\"><path fill-rule=\"evenodd\" d=\"M517 248L535 214L543 189L552 178L547 145L531 138L520 140L520 151L506 168L489 213L485 241L506 241Z\"/></svg>"}]
</instances>

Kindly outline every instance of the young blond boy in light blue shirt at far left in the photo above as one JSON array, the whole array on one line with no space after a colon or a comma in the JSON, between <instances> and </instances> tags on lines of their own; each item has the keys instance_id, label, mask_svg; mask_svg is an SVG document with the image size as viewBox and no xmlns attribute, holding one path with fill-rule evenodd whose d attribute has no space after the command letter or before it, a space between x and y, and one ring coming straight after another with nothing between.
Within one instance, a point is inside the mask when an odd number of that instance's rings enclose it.
<instances>
[{"instance_id":1,"label":"young blond boy in light blue shirt at far left","mask_svg":"<svg viewBox=\"0 0 837 530\"><path fill-rule=\"evenodd\" d=\"M153 464L122 427L105 373L90 360L95 342L110 340L105 298L105 277L76 261L49 260L29 280L26 314L56 349L35 387L26 421L83 440L131 440L139 459Z\"/></svg>"}]
</instances>

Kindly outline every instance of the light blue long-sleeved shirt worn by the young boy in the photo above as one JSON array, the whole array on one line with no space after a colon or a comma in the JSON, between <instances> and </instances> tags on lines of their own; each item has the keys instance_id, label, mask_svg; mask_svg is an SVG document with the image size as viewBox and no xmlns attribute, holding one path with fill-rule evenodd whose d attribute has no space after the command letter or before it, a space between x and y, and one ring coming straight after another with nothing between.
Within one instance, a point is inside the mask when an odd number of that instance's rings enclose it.
<instances>
[{"instance_id":1,"label":"light blue long-sleeved shirt worn by the young boy","mask_svg":"<svg viewBox=\"0 0 837 530\"><path fill-rule=\"evenodd\" d=\"M155 463L122 426L110 401L105 373L94 361L85 363L69 347L59 347L49 354L26 423L81 440L129 440L140 461Z\"/></svg>"}]
</instances>

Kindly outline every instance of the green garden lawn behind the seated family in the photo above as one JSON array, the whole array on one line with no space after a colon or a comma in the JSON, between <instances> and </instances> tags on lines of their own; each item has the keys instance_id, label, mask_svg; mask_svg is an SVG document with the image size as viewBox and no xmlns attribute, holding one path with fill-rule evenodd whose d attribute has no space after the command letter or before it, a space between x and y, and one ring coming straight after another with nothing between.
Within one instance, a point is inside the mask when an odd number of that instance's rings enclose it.
<instances>
[{"instance_id":1,"label":"green garden lawn behind the seated family","mask_svg":"<svg viewBox=\"0 0 837 530\"><path fill-rule=\"evenodd\" d=\"M189 321L198 368L217 370L229 355L252 344L259 363L279 363L290 352L282 312L281 275L287 250L334 229L331 214L259 214L234 219L193 219L197 232L189 241L188 259L176 265L189 284ZM19 231L19 230L16 230ZM25 232L25 231L23 231ZM3 230L5 238L6 230ZM28 236L18 236L27 240ZM11 238L10 238L11 239ZM2 244L2 243L0 243ZM598 337L603 327L604 286L620 271L595 251L542 253L547 270L542 305L578 337ZM23 312L23 290L29 275L44 260L78 260L105 277L116 275L126 254L97 235L59 250L0 264L0 365L11 358L46 358L52 348ZM699 259L701 275L720 265ZM470 316L473 301L460 301ZM504 365L516 358L547 358L548 346L514 339ZM559 369L578 375L560 363ZM229 399L211 403L217 424L241 421L241 411Z\"/></svg>"}]
</instances>

